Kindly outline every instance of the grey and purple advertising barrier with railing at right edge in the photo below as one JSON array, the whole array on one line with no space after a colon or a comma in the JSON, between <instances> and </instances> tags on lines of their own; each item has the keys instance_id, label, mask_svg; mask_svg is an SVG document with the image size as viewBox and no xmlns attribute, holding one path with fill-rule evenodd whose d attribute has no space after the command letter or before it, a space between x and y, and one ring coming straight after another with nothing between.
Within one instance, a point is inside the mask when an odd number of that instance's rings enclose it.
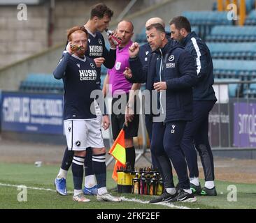
<instances>
[{"instance_id":1,"label":"grey and purple advertising barrier with railing at right edge","mask_svg":"<svg viewBox=\"0 0 256 223\"><path fill-rule=\"evenodd\" d=\"M209 141L213 149L256 147L256 98L254 81L215 82L218 102L209 116ZM236 84L236 97L229 97L229 85Z\"/></svg>"}]
</instances>

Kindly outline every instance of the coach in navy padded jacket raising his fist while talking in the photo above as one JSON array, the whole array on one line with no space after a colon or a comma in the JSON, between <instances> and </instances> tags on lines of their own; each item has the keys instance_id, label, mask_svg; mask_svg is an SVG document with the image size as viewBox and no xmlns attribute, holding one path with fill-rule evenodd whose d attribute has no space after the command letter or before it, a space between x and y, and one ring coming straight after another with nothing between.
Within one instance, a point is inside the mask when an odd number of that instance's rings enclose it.
<instances>
[{"instance_id":1,"label":"coach in navy padded jacket raising his fist while talking","mask_svg":"<svg viewBox=\"0 0 256 223\"><path fill-rule=\"evenodd\" d=\"M190 190L187 164L180 148L180 141L187 121L192 119L192 86L197 82L197 70L192 56L172 40L166 39L164 27L152 24L146 28L148 43L152 49L148 67L138 59L138 43L129 48L131 82L146 83L146 89L159 93L161 112L166 114L164 122L153 119L150 150L155 155L157 167L164 181L164 193L150 203L162 201L196 201ZM166 90L166 109L162 106L162 93ZM172 167L178 175L181 190L173 184Z\"/></svg>"}]
</instances>

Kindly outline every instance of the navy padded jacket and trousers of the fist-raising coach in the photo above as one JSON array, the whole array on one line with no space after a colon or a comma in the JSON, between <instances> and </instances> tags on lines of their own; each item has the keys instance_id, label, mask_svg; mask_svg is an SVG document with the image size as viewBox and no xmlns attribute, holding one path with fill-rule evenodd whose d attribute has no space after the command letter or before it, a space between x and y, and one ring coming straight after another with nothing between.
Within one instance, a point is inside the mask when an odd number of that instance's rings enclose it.
<instances>
[{"instance_id":1,"label":"navy padded jacket and trousers of the fist-raising coach","mask_svg":"<svg viewBox=\"0 0 256 223\"><path fill-rule=\"evenodd\" d=\"M160 60L160 63L159 63ZM190 188L187 164L180 149L185 123L192 119L192 86L197 82L197 71L192 56L179 45L169 42L148 58L148 66L142 67L136 57L129 59L133 77L130 82L145 82L146 89L152 91L155 79L166 82L166 108L164 123L153 123L151 151L156 156L157 167L164 179L164 187L174 187L172 169L176 169L180 187ZM159 70L157 69L157 63ZM162 101L162 98L159 99ZM171 162L169 161L171 159Z\"/></svg>"}]
</instances>

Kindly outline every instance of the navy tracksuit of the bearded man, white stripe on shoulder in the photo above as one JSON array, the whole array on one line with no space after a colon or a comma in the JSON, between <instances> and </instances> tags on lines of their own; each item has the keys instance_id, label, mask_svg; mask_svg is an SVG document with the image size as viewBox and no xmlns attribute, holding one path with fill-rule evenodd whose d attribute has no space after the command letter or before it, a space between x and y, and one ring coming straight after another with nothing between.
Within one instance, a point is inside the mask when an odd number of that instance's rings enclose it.
<instances>
[{"instance_id":1,"label":"navy tracksuit of the bearded man, white stripe on shoulder","mask_svg":"<svg viewBox=\"0 0 256 223\"><path fill-rule=\"evenodd\" d=\"M205 180L214 180L213 153L208 141L208 115L217 100L213 90L213 61L207 45L196 33L189 33L180 44L193 56L198 79L193 88L193 119L186 125L181 148L190 178L199 176L195 146L201 157Z\"/></svg>"}]
</instances>

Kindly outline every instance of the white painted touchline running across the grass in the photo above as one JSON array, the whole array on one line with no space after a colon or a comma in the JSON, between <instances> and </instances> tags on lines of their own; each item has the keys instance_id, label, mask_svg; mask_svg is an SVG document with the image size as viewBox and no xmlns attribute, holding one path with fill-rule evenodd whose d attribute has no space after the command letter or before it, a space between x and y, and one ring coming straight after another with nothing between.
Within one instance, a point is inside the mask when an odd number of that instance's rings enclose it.
<instances>
[{"instance_id":1,"label":"white painted touchline running across the grass","mask_svg":"<svg viewBox=\"0 0 256 223\"><path fill-rule=\"evenodd\" d=\"M25 185L12 185L12 184L7 184L7 183L0 183L0 186L3 186L3 187L22 187L22 186L25 186ZM27 186L26 186L27 187ZM56 192L56 190L52 190L50 188L41 188L41 187L27 187L27 189L31 189L31 190L46 190L46 191L50 191L50 192ZM69 194L73 194L73 192L71 191L68 191ZM123 201L129 201L129 202L136 202L136 203L149 203L149 201L142 201L142 200L139 200L139 199L127 199L126 197L121 197L121 199ZM172 203L164 203L164 202L161 202L161 203L152 203L154 205L162 205L162 206L167 206L169 208L178 208L178 209L191 209L191 208L188 208L186 206L175 206L173 205Z\"/></svg>"}]
</instances>

